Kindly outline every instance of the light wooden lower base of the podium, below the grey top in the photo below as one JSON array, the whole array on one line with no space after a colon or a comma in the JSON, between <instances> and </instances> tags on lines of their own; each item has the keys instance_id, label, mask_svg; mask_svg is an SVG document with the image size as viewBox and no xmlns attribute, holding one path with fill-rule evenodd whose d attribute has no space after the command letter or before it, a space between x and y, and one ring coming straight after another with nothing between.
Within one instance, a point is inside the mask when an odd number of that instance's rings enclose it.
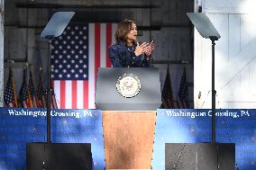
<instances>
[{"instance_id":1,"label":"light wooden lower base of the podium, below the grey top","mask_svg":"<svg viewBox=\"0 0 256 170\"><path fill-rule=\"evenodd\" d=\"M156 112L104 111L106 169L151 169Z\"/></svg>"}]
</instances>

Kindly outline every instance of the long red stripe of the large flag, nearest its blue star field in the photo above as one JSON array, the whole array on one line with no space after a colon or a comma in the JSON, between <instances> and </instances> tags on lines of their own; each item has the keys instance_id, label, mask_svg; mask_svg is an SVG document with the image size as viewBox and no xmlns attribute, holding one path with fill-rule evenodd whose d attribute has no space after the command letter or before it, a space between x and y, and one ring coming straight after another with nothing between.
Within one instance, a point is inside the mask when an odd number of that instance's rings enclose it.
<instances>
[{"instance_id":1,"label":"long red stripe of the large flag, nearest its blue star field","mask_svg":"<svg viewBox=\"0 0 256 170\"><path fill-rule=\"evenodd\" d=\"M100 67L100 23L95 24L95 77L98 67Z\"/></svg>"}]
</instances>

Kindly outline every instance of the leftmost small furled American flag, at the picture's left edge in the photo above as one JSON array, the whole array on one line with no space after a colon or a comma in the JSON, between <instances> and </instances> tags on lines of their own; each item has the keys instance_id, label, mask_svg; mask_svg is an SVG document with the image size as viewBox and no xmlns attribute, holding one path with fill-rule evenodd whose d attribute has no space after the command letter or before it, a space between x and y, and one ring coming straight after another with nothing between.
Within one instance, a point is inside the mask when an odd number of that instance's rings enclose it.
<instances>
[{"instance_id":1,"label":"leftmost small furled American flag, at the picture's left edge","mask_svg":"<svg viewBox=\"0 0 256 170\"><path fill-rule=\"evenodd\" d=\"M18 107L17 95L14 86L13 70L9 67L9 76L5 86L4 101L6 107Z\"/></svg>"}]
</instances>

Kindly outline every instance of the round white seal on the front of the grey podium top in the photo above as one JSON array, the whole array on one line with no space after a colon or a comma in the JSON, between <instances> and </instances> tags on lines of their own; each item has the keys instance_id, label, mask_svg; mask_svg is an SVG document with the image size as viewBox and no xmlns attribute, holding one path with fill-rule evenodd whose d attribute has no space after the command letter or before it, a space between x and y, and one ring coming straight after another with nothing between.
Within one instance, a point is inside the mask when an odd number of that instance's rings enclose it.
<instances>
[{"instance_id":1,"label":"round white seal on the front of the grey podium top","mask_svg":"<svg viewBox=\"0 0 256 170\"><path fill-rule=\"evenodd\" d=\"M133 74L123 74L116 81L116 89L119 94L126 98L132 98L140 93L141 81Z\"/></svg>"}]
</instances>

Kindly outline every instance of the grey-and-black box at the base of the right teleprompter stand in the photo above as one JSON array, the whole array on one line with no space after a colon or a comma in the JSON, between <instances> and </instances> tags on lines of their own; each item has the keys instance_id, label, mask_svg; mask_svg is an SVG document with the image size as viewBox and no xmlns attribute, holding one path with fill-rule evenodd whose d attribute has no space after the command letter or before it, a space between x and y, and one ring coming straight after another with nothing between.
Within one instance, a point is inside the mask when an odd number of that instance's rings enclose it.
<instances>
[{"instance_id":1,"label":"grey-and-black box at the base of the right teleprompter stand","mask_svg":"<svg viewBox=\"0 0 256 170\"><path fill-rule=\"evenodd\" d=\"M165 144L166 170L233 170L235 146L230 143Z\"/></svg>"}]
</instances>

